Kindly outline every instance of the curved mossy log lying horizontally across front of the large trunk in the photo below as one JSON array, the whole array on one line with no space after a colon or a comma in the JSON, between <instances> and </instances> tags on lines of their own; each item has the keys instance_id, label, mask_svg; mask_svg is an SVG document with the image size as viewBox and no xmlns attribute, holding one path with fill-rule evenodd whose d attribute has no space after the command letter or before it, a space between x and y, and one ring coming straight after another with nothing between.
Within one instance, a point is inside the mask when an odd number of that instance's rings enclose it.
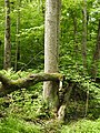
<instances>
[{"instance_id":1,"label":"curved mossy log lying horizontally across front of the large trunk","mask_svg":"<svg viewBox=\"0 0 100 133\"><path fill-rule=\"evenodd\" d=\"M0 73L0 96L4 96L22 88L29 88L42 81L62 81L63 75L60 73L38 73L28 75L24 79L10 80Z\"/></svg>"}]
</instances>

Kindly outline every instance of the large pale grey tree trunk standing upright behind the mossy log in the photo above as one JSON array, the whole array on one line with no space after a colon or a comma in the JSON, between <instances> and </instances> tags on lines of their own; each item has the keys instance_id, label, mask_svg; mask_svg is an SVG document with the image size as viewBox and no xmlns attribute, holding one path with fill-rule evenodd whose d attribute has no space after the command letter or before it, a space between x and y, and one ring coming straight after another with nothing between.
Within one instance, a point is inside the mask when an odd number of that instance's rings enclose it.
<instances>
[{"instance_id":1,"label":"large pale grey tree trunk standing upright behind the mossy log","mask_svg":"<svg viewBox=\"0 0 100 133\"><path fill-rule=\"evenodd\" d=\"M58 7L59 0L46 1L46 31L44 31L44 72L58 72ZM59 104L58 83L43 84L43 99L57 111Z\"/></svg>"}]
</instances>

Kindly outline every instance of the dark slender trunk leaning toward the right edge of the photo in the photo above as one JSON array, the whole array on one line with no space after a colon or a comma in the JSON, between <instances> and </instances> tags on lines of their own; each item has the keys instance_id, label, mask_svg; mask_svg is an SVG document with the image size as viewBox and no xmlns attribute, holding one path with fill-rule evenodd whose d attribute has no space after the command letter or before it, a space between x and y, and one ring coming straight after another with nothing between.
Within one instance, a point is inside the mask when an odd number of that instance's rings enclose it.
<instances>
[{"instance_id":1,"label":"dark slender trunk leaning toward the right edge of the photo","mask_svg":"<svg viewBox=\"0 0 100 133\"><path fill-rule=\"evenodd\" d=\"M94 79L97 78L99 59L100 59L100 19L99 19L99 24L98 24L96 51L93 53L93 61L92 61L92 69L91 69L91 74Z\"/></svg>"}]
</instances>

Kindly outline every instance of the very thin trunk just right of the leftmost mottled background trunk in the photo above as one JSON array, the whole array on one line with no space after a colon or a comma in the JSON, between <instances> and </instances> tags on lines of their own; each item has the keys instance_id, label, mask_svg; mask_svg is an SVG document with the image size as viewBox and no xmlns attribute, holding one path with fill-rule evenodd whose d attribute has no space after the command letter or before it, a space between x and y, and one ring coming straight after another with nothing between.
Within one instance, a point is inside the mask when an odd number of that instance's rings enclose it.
<instances>
[{"instance_id":1,"label":"very thin trunk just right of the leftmost mottled background trunk","mask_svg":"<svg viewBox=\"0 0 100 133\"><path fill-rule=\"evenodd\" d=\"M17 71L18 68L18 60L20 59L20 37L19 37L19 31L20 31L20 4L21 1L17 1L18 6L18 12L17 12L17 37L16 37L16 42L17 42L17 48L16 48L16 62L14 62L14 71Z\"/></svg>"}]
</instances>

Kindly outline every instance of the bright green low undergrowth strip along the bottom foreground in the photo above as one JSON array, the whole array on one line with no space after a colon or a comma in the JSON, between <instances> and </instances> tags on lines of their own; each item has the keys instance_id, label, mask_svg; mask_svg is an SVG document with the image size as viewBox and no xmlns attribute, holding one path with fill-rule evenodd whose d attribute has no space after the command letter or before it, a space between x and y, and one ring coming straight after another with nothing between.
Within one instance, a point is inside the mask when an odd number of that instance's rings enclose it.
<instances>
[{"instance_id":1,"label":"bright green low undergrowth strip along the bottom foreground","mask_svg":"<svg viewBox=\"0 0 100 133\"><path fill-rule=\"evenodd\" d=\"M96 121L82 119L68 124L49 120L42 124L34 124L9 116L0 121L0 133L100 133L100 119Z\"/></svg>"}]
</instances>

